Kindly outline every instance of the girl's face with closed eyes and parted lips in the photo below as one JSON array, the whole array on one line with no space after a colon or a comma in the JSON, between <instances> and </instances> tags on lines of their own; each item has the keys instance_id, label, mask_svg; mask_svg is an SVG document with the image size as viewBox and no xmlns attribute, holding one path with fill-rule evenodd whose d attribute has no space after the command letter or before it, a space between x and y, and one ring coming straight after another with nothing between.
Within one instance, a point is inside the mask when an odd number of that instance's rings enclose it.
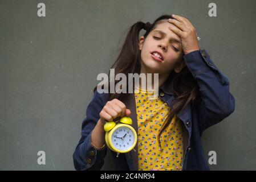
<instances>
[{"instance_id":1,"label":"girl's face with closed eyes and parted lips","mask_svg":"<svg viewBox=\"0 0 256 182\"><path fill-rule=\"evenodd\" d=\"M141 50L141 69L144 73L170 73L174 69L180 72L185 66L182 61L183 51L181 39L178 35L169 30L174 26L167 20L157 25L147 38L140 37L139 49ZM153 56L154 52L161 55L161 59Z\"/></svg>"}]
</instances>

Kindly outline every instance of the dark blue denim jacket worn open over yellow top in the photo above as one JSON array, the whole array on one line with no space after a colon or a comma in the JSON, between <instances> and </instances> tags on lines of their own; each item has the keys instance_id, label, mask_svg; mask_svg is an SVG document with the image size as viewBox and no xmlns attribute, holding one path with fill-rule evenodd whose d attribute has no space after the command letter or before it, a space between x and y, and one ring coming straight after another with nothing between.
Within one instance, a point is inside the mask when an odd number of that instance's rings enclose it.
<instances>
[{"instance_id":1,"label":"dark blue denim jacket worn open over yellow top","mask_svg":"<svg viewBox=\"0 0 256 182\"><path fill-rule=\"evenodd\" d=\"M209 170L201 143L202 132L208 127L222 121L233 113L235 100L229 92L228 78L214 65L205 49L184 55L184 61L193 77L196 79L201 93L201 100L195 106L188 104L177 114L184 123L184 158L182 170ZM159 88L161 100L169 106L173 101L173 93L169 89L169 80ZM95 92L86 109L86 118L82 122L81 138L73 154L76 170L100 170L107 154L107 145L102 149L91 145L91 132L100 118L100 111L109 100L109 94ZM122 100L127 109L131 110L130 117L133 128L137 131L137 114L134 93L129 93ZM111 150L109 150L111 151ZM135 150L125 154L111 151L116 170L138 170L137 144Z\"/></svg>"}]
</instances>

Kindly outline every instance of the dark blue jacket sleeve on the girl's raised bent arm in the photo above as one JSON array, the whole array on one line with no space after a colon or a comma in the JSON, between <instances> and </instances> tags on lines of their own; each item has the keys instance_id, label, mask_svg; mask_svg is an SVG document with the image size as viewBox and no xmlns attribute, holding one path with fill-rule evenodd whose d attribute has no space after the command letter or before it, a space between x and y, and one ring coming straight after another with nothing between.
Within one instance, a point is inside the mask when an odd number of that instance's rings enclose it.
<instances>
[{"instance_id":1,"label":"dark blue jacket sleeve on the girl's raised bent arm","mask_svg":"<svg viewBox=\"0 0 256 182\"><path fill-rule=\"evenodd\" d=\"M229 80L214 65L205 49L184 55L184 61L201 92L198 122L202 133L233 113L235 100L229 92Z\"/></svg>"}]
</instances>

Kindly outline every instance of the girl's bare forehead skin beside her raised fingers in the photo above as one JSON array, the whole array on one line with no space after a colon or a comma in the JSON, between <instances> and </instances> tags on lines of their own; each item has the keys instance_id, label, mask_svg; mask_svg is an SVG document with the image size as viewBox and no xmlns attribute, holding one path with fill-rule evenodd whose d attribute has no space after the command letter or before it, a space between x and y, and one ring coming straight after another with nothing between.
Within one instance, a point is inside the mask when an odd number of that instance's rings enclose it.
<instances>
[{"instance_id":1,"label":"girl's bare forehead skin beside her raised fingers","mask_svg":"<svg viewBox=\"0 0 256 182\"><path fill-rule=\"evenodd\" d=\"M173 24L169 23L168 20L158 24L156 26L156 28L151 32L151 34L160 34L159 31L161 32L164 32L165 33L165 36L168 36L169 38L175 38L175 39L178 39L180 40L181 42L181 39L180 37L175 34L174 32L172 32L168 27L170 26L174 26Z\"/></svg>"}]
</instances>

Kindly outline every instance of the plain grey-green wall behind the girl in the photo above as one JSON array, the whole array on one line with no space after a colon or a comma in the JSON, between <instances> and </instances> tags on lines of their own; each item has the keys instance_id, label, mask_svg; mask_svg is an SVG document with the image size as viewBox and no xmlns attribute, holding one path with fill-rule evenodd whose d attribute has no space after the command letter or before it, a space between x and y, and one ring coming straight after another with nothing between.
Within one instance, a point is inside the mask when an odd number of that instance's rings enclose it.
<instances>
[{"instance_id":1,"label":"plain grey-green wall behind the girl","mask_svg":"<svg viewBox=\"0 0 256 182\"><path fill-rule=\"evenodd\" d=\"M46 4L46 17L37 5ZM210 2L217 17L208 16ZM86 107L137 20L188 18L229 78L235 111L202 136L212 170L256 169L256 1L0 1L0 169L74 170ZM37 152L46 152L46 165ZM113 169L111 156L103 169Z\"/></svg>"}]
</instances>

